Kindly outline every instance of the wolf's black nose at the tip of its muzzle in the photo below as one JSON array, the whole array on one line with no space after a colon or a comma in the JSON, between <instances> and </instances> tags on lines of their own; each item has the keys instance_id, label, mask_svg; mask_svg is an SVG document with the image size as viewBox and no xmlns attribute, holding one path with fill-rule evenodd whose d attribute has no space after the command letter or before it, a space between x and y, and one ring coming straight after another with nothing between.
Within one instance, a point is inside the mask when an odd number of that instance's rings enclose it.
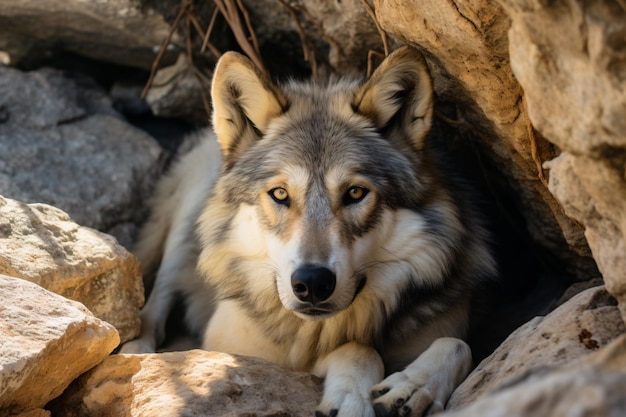
<instances>
[{"instance_id":1,"label":"wolf's black nose at the tip of its muzzle","mask_svg":"<svg viewBox=\"0 0 626 417\"><path fill-rule=\"evenodd\" d=\"M291 288L300 301L317 304L331 296L336 281L335 273L330 269L305 265L291 275Z\"/></svg>"}]
</instances>

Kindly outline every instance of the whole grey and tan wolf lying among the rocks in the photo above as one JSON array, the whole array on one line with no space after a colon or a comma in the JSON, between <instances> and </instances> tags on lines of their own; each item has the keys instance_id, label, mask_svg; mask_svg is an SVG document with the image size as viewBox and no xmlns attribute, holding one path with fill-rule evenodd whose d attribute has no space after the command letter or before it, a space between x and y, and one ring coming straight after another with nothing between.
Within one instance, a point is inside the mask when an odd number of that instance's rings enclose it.
<instances>
[{"instance_id":1,"label":"whole grey and tan wolf lying among the rocks","mask_svg":"<svg viewBox=\"0 0 626 417\"><path fill-rule=\"evenodd\" d=\"M497 268L428 135L422 55L397 49L366 81L278 84L228 52L211 95L214 132L157 186L136 251L156 279L122 352L158 347L179 294L204 349L324 378L317 417L441 411Z\"/></svg>"}]
</instances>

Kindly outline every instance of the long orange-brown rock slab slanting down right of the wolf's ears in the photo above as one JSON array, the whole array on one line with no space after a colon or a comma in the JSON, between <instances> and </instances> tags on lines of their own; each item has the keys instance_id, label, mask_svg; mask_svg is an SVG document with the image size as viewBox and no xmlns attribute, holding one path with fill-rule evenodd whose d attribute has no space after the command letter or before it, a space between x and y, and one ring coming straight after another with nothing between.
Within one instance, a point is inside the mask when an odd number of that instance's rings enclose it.
<instances>
[{"instance_id":1,"label":"long orange-brown rock slab slanting down right of the wolf's ears","mask_svg":"<svg viewBox=\"0 0 626 417\"><path fill-rule=\"evenodd\" d=\"M535 242L580 279L597 275L583 228L565 215L542 180L541 161L556 151L532 134L524 91L509 66L510 20L504 10L487 0L375 0L374 5L383 29L425 53L440 108L453 107L461 129L478 139L475 145L506 180Z\"/></svg>"}]
</instances>

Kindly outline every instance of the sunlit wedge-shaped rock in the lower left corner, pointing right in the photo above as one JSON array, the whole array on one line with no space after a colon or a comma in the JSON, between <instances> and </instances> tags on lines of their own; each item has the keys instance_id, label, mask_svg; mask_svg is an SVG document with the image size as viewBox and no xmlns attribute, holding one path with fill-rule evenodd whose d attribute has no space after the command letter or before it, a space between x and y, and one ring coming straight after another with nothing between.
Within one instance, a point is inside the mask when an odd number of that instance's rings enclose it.
<instances>
[{"instance_id":1,"label":"sunlit wedge-shaped rock in the lower left corner, pointing right","mask_svg":"<svg viewBox=\"0 0 626 417\"><path fill-rule=\"evenodd\" d=\"M83 305L0 275L0 416L42 408L119 344Z\"/></svg>"}]
</instances>

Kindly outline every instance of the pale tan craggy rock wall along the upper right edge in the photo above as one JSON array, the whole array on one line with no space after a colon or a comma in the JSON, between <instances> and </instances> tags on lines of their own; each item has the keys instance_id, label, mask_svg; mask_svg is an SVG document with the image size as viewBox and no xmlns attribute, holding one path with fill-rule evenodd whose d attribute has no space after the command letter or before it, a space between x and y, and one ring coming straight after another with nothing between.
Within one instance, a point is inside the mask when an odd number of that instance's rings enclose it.
<instances>
[{"instance_id":1,"label":"pale tan craggy rock wall along the upper right edge","mask_svg":"<svg viewBox=\"0 0 626 417\"><path fill-rule=\"evenodd\" d=\"M500 0L533 125L562 153L550 190L585 236L626 318L626 10L614 1Z\"/></svg>"}]
</instances>

